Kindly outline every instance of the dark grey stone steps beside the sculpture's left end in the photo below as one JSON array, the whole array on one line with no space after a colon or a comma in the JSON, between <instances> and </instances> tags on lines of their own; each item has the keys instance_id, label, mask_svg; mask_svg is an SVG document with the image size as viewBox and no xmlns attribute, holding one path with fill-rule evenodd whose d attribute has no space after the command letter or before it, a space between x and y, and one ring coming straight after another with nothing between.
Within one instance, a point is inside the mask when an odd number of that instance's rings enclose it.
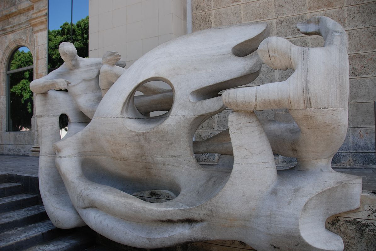
<instances>
[{"instance_id":1,"label":"dark grey stone steps beside the sculpture's left end","mask_svg":"<svg viewBox=\"0 0 376 251\"><path fill-rule=\"evenodd\" d=\"M20 179L27 180L28 184L15 183ZM40 204L38 193L25 193L38 190L35 188L38 188L37 178L0 174L0 251L81 251L94 248L90 228L59 229L52 224Z\"/></svg>"}]
</instances>

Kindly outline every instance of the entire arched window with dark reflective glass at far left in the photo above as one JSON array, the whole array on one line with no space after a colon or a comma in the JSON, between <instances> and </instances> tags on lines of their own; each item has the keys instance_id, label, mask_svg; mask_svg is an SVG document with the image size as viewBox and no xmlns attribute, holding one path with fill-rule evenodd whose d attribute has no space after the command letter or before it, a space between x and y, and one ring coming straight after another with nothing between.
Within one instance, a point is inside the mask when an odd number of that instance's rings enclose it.
<instances>
[{"instance_id":1,"label":"entire arched window with dark reflective glass at far left","mask_svg":"<svg viewBox=\"0 0 376 251\"><path fill-rule=\"evenodd\" d=\"M33 116L33 56L27 47L14 51L8 64L8 131L30 131Z\"/></svg>"}]
</instances>

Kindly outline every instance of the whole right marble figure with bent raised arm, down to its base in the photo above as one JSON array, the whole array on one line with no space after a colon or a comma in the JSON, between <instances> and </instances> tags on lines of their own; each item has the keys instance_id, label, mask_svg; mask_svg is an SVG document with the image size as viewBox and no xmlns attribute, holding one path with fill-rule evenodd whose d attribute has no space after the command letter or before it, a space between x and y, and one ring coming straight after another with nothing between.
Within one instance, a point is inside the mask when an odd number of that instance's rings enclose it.
<instances>
[{"instance_id":1,"label":"whole right marble figure with bent raised arm, down to its base","mask_svg":"<svg viewBox=\"0 0 376 251\"><path fill-rule=\"evenodd\" d=\"M347 34L327 17L311 18L297 28L323 36L324 47L267 38L258 48L260 58L274 69L294 69L293 75L282 82L229 90L222 97L236 110L288 108L296 124L263 123L274 153L297 158L297 170L332 170L331 160L347 131Z\"/></svg>"}]
</instances>

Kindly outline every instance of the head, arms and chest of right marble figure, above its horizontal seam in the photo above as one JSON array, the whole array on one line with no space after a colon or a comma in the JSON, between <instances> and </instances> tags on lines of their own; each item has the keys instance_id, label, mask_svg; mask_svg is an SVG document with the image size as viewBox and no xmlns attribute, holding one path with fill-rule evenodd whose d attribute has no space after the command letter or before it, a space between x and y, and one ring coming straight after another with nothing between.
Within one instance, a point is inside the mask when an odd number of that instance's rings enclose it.
<instances>
[{"instance_id":1,"label":"head, arms and chest of right marble figure, above its horizontal seam","mask_svg":"<svg viewBox=\"0 0 376 251\"><path fill-rule=\"evenodd\" d=\"M273 69L294 69L294 74L283 82L228 90L222 96L227 107L238 110L347 107L348 79L337 77L348 74L346 32L327 17L311 18L297 24L297 29L303 34L323 36L324 47L299 47L279 37L265 39L257 51L261 60ZM338 63L341 60L343 63Z\"/></svg>"}]
</instances>

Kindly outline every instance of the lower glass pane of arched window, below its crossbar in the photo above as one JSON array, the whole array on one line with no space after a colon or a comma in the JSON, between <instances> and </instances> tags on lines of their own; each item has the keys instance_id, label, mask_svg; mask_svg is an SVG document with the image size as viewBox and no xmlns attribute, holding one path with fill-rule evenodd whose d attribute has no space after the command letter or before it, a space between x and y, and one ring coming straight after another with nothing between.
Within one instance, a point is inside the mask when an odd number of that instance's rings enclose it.
<instances>
[{"instance_id":1,"label":"lower glass pane of arched window, below its crossbar","mask_svg":"<svg viewBox=\"0 0 376 251\"><path fill-rule=\"evenodd\" d=\"M33 69L8 74L8 131L31 130L33 116L33 93L30 82Z\"/></svg>"}]
</instances>

